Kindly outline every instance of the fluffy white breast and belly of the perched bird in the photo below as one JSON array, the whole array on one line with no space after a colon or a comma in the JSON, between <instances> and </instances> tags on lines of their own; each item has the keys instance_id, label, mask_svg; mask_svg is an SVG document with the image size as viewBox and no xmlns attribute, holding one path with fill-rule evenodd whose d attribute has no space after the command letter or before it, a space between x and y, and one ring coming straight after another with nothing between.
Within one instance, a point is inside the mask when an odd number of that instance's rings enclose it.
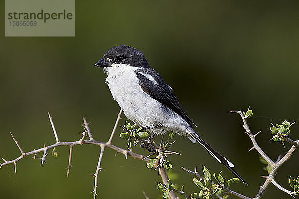
<instances>
[{"instance_id":1,"label":"fluffy white breast and belly of the perched bird","mask_svg":"<svg viewBox=\"0 0 299 199\"><path fill-rule=\"evenodd\" d=\"M106 83L113 98L123 109L128 119L139 126L149 127L155 134L173 131L185 134L189 125L178 114L168 109L145 93L135 74L137 67L126 64L112 64L104 68L108 73Z\"/></svg>"}]
</instances>

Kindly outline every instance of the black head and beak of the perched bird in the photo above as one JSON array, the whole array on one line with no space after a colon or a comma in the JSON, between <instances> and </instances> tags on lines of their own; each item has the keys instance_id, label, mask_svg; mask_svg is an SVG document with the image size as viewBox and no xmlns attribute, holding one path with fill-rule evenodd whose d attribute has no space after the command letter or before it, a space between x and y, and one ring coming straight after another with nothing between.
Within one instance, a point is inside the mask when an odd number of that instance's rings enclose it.
<instances>
[{"instance_id":1,"label":"black head and beak of the perched bird","mask_svg":"<svg viewBox=\"0 0 299 199\"><path fill-rule=\"evenodd\" d=\"M128 64L133 67L149 68L145 55L130 46L114 46L106 51L95 67L110 67L112 64Z\"/></svg>"}]
</instances>

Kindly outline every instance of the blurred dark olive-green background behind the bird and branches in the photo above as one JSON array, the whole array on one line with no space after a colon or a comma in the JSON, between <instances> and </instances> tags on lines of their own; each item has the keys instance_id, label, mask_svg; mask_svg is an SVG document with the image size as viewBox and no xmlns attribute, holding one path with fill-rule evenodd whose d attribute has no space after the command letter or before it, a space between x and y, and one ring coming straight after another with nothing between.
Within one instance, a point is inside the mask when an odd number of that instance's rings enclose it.
<instances>
[{"instance_id":1,"label":"blurred dark olive-green background behind the bird and branches","mask_svg":"<svg viewBox=\"0 0 299 199\"><path fill-rule=\"evenodd\" d=\"M10 131L25 151L54 143L47 112L61 141L80 139L82 116L91 122L95 139L108 140L119 106L104 83L106 74L93 66L115 45L143 51L174 88L198 134L247 180L248 187L240 183L233 190L254 197L264 182L260 176L267 173L257 152L247 152L252 144L230 110L252 107L250 127L262 130L257 141L273 160L290 148L269 142L269 127L271 122L299 119L298 1L77 0L75 37L4 37L4 1L0 4L0 157L19 156ZM122 118L121 124L126 121ZM295 124L291 138L299 139L298 131ZM118 128L113 143L125 148L120 132ZM170 177L187 194L198 189L181 166L201 171L206 165L211 172L223 170L233 177L200 145L176 139L172 149L182 155L169 157L174 166ZM57 150L59 156L49 154L43 167L39 159L26 157L17 164L17 174L13 165L0 169L0 198L91 199L94 179L89 174L95 172L100 148L75 147L68 179L69 147ZM139 147L134 151L148 154ZM98 198L142 199L142 190L150 199L161 197L157 171L114 153L105 150ZM299 175L298 160L296 151L277 173L277 182L288 189L289 176ZM264 198L290 196L271 185Z\"/></svg>"}]
</instances>

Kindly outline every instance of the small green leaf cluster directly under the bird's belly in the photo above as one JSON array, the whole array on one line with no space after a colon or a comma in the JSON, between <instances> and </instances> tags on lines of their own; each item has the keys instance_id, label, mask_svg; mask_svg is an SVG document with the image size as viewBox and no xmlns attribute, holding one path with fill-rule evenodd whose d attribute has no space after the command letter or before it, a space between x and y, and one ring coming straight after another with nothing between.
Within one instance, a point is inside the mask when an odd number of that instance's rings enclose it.
<instances>
[{"instance_id":1,"label":"small green leaf cluster directly under the bird's belly","mask_svg":"<svg viewBox=\"0 0 299 199\"><path fill-rule=\"evenodd\" d=\"M135 146L135 143L138 143L137 138L146 138L149 136L149 134L146 131L142 130L142 127L134 129L135 126L136 124L130 124L129 119L127 119L126 124L122 126L123 129L126 130L126 132L121 133L120 137L129 141L127 145L127 148L129 150L132 149L132 146Z\"/></svg>"}]
</instances>

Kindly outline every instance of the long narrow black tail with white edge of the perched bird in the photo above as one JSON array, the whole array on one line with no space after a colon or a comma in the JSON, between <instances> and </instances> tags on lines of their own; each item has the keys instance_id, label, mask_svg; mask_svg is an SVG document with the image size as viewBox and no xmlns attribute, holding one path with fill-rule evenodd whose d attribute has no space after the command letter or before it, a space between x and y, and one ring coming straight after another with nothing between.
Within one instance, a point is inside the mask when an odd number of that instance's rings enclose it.
<instances>
[{"instance_id":1,"label":"long narrow black tail with white edge of the perched bird","mask_svg":"<svg viewBox=\"0 0 299 199\"><path fill-rule=\"evenodd\" d=\"M203 148L205 148L216 160L218 160L221 164L223 164L228 170L230 170L235 176L237 176L245 185L247 183L245 180L233 169L235 167L228 159L226 159L223 155L218 153L215 149L213 149L208 143L206 143L203 139L199 137L196 133L192 133L191 137L196 140ZM189 137L189 139L191 139ZM192 139L191 139L192 140Z\"/></svg>"}]
</instances>

